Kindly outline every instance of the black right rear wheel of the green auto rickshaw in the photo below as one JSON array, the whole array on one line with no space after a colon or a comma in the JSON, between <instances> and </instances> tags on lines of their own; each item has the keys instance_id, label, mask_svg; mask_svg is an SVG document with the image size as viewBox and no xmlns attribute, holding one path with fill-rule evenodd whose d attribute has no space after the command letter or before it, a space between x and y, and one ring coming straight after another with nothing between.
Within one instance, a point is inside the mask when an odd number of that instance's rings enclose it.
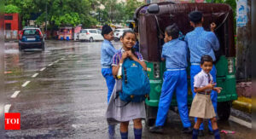
<instances>
[{"instance_id":1,"label":"black right rear wheel of the green auto rickshaw","mask_svg":"<svg viewBox=\"0 0 256 139\"><path fill-rule=\"evenodd\" d=\"M230 118L231 101L221 101L217 105L218 120L224 121Z\"/></svg>"}]
</instances>

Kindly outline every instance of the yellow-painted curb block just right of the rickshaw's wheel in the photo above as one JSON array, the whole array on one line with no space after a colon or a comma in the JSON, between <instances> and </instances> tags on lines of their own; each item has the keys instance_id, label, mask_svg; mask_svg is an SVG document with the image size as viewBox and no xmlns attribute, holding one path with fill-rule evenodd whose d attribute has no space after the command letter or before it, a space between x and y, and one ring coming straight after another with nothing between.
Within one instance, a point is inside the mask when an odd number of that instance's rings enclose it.
<instances>
[{"instance_id":1,"label":"yellow-painted curb block just right of the rickshaw's wheel","mask_svg":"<svg viewBox=\"0 0 256 139\"><path fill-rule=\"evenodd\" d=\"M252 99L247 97L238 97L232 102L232 107L246 113L252 113Z\"/></svg>"}]
</instances>

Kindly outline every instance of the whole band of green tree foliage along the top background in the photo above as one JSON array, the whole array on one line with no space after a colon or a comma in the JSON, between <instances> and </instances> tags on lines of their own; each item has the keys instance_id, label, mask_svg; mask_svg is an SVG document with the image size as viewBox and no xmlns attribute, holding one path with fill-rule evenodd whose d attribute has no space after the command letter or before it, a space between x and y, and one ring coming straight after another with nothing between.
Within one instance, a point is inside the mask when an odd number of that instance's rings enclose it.
<instances>
[{"instance_id":1,"label":"whole band of green tree foliage along the top background","mask_svg":"<svg viewBox=\"0 0 256 139\"><path fill-rule=\"evenodd\" d=\"M36 20L38 26L48 21L49 28L58 26L90 27L103 23L122 23L132 20L135 9L143 3L128 0L118 3L117 0L5 0L8 12L19 11L24 26L29 20ZM103 5L105 9L100 9ZM46 12L47 7L47 12ZM36 16L36 19L34 19Z\"/></svg>"}]
</instances>

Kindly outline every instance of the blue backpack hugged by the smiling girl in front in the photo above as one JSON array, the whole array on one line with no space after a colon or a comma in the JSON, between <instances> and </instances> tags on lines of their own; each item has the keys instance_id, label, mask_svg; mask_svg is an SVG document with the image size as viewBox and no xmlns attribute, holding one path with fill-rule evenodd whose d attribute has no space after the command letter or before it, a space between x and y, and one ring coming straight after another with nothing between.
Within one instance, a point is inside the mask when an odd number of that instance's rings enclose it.
<instances>
[{"instance_id":1,"label":"blue backpack hugged by the smiling girl in front","mask_svg":"<svg viewBox=\"0 0 256 139\"><path fill-rule=\"evenodd\" d=\"M122 66L122 91L119 98L126 102L141 102L149 98L148 73L137 61L126 58Z\"/></svg>"}]
</instances>

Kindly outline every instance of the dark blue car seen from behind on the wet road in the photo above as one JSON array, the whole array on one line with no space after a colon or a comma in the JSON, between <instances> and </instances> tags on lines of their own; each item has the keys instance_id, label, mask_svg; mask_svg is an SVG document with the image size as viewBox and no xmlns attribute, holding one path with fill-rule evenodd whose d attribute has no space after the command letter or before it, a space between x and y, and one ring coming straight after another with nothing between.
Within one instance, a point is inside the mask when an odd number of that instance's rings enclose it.
<instances>
[{"instance_id":1,"label":"dark blue car seen from behind on the wet road","mask_svg":"<svg viewBox=\"0 0 256 139\"><path fill-rule=\"evenodd\" d=\"M19 49L42 49L44 51L44 36L39 28L24 28L19 34Z\"/></svg>"}]
</instances>

